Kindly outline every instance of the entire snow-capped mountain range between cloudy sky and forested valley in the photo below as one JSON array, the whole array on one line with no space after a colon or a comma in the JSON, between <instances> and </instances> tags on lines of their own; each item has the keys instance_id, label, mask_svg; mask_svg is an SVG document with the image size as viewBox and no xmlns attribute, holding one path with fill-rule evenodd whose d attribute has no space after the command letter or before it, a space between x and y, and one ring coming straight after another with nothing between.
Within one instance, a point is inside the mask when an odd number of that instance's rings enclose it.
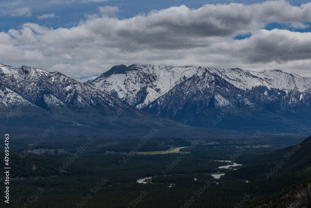
<instances>
[{"instance_id":1,"label":"entire snow-capped mountain range between cloudy sky and forested valley","mask_svg":"<svg viewBox=\"0 0 311 208\"><path fill-rule=\"evenodd\" d=\"M117 65L82 84L59 72L0 64L0 111L17 123L36 115L76 126L133 125L141 119L298 131L309 129L310 104L311 78L281 70Z\"/></svg>"}]
</instances>

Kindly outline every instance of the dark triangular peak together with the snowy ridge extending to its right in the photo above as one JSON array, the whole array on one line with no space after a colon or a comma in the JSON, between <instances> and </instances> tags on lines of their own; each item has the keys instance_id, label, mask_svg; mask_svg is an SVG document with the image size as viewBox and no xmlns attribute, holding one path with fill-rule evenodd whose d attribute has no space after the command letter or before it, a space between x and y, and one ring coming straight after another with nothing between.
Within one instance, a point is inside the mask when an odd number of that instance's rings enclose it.
<instances>
[{"instance_id":1,"label":"dark triangular peak together with the snowy ridge extending to its right","mask_svg":"<svg viewBox=\"0 0 311 208\"><path fill-rule=\"evenodd\" d=\"M231 126L288 122L284 119L310 123L310 80L280 70L199 68L191 78L142 110L181 123L208 127L219 123L221 119L217 121L216 116L224 110Z\"/></svg>"}]
</instances>

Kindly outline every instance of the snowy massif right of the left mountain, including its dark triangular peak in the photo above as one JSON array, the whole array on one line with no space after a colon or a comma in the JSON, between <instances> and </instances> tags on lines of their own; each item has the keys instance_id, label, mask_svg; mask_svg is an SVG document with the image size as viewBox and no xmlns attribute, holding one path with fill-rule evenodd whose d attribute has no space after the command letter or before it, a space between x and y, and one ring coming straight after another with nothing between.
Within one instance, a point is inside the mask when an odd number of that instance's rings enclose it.
<instances>
[{"instance_id":1,"label":"snowy massif right of the left mountain, including its dark triangular peak","mask_svg":"<svg viewBox=\"0 0 311 208\"><path fill-rule=\"evenodd\" d=\"M307 118L311 115L311 79L281 70L254 72L242 69L118 65L85 84L118 97L144 112L190 125L206 123L193 122L203 117L205 120L211 119L209 116L217 114L217 109L224 108L244 113L264 109L269 114L267 117L292 120L296 116L304 121L311 120L311 116ZM304 112L303 115L297 115L301 112ZM249 119L252 116L249 114L246 117Z\"/></svg>"}]
</instances>

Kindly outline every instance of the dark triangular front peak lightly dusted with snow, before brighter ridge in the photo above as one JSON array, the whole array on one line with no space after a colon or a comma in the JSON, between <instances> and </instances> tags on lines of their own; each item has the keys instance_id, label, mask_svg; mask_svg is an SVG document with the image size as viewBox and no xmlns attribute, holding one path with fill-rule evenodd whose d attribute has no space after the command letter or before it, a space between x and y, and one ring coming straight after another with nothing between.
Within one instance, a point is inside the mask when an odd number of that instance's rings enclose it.
<instances>
[{"instance_id":1,"label":"dark triangular front peak lightly dusted with snow, before brighter ridge","mask_svg":"<svg viewBox=\"0 0 311 208\"><path fill-rule=\"evenodd\" d=\"M270 102L270 97L255 90L239 89L207 68L176 85L142 110L188 123L209 108L239 108L251 110Z\"/></svg>"}]
</instances>

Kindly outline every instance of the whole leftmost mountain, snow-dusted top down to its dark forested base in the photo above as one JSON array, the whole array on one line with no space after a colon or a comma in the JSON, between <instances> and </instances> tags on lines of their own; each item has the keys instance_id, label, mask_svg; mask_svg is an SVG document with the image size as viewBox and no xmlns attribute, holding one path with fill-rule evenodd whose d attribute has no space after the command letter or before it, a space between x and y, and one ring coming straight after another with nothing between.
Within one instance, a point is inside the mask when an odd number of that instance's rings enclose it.
<instances>
[{"instance_id":1,"label":"whole leftmost mountain, snow-dusted top down to its dark forested base","mask_svg":"<svg viewBox=\"0 0 311 208\"><path fill-rule=\"evenodd\" d=\"M154 117L59 72L0 64L0 116L5 115L24 123L37 117L37 123L57 120L78 126L124 125Z\"/></svg>"}]
</instances>

